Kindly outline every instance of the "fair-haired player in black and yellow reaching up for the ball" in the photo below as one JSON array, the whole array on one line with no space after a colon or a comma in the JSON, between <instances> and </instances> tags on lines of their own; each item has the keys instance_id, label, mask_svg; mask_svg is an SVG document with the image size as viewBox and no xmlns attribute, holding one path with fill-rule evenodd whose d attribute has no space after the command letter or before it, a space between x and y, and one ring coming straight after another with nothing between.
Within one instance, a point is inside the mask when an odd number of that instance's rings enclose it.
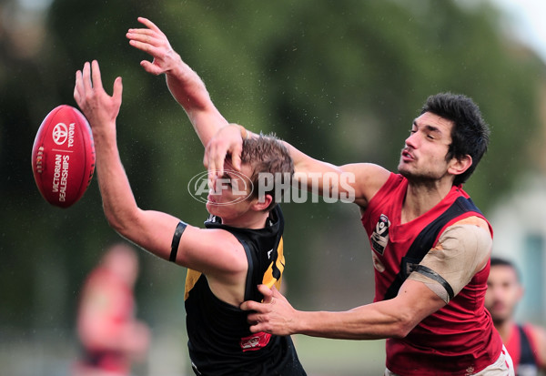
<instances>
[{"instance_id":1,"label":"fair-haired player in black and yellow reaching up for the ball","mask_svg":"<svg viewBox=\"0 0 546 376\"><path fill-rule=\"evenodd\" d=\"M141 65L147 72L166 74L171 94L186 109L206 145L227 121L207 101L194 100L193 94L207 93L201 79L156 25L145 18L138 20L147 27L130 29L130 44L154 57L153 62L145 60ZM251 333L247 313L238 308L243 300L263 298L259 283L280 287L285 266L284 219L276 205L275 188L260 193L253 187L259 173L287 176L289 184L294 166L288 150L276 137L247 139L242 147L242 174L234 173L226 162L222 184L208 194L207 229L199 229L136 205L116 145L121 77L116 78L110 97L102 86L98 63L86 63L76 73L74 97L93 130L98 184L110 226L143 249L188 268L185 303L193 371L213 376L305 375L290 338Z\"/></svg>"}]
</instances>

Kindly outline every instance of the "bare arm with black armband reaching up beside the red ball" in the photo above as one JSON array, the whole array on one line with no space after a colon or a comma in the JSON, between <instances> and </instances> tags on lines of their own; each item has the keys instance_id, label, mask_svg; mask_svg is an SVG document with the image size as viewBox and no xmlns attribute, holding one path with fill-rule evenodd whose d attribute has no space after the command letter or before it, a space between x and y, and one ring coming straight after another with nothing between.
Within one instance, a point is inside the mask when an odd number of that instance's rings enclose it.
<instances>
[{"instance_id":1,"label":"bare arm with black armband reaching up beside the red ball","mask_svg":"<svg viewBox=\"0 0 546 376\"><path fill-rule=\"evenodd\" d=\"M179 219L137 207L119 158L116 117L121 106L121 77L116 78L114 93L110 97L102 86L98 63L86 63L83 71L76 72L74 97L93 131L98 185L110 226L143 249L169 259ZM218 247L218 243L223 246ZM177 250L178 264L218 278L229 278L246 272L248 268L244 249L238 240L221 229L187 226Z\"/></svg>"}]
</instances>

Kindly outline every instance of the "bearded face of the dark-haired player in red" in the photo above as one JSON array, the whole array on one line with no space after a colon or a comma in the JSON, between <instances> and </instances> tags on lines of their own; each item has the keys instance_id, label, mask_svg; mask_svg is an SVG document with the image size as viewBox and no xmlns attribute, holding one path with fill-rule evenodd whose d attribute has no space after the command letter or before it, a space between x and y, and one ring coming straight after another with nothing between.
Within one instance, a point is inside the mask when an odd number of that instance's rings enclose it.
<instances>
[{"instance_id":1,"label":"bearded face of the dark-haired player in red","mask_svg":"<svg viewBox=\"0 0 546 376\"><path fill-rule=\"evenodd\" d=\"M410 181L434 181L445 177L450 167L446 155L452 127L452 121L430 112L416 118L400 155L400 174Z\"/></svg>"}]
</instances>

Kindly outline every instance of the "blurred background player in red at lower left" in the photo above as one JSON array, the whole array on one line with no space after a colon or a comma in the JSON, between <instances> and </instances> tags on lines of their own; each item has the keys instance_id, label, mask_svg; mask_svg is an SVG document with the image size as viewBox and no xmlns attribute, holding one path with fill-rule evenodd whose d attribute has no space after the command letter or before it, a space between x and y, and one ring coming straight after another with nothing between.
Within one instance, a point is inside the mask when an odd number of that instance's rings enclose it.
<instances>
[{"instance_id":1,"label":"blurred background player in red at lower left","mask_svg":"<svg viewBox=\"0 0 546 376\"><path fill-rule=\"evenodd\" d=\"M75 376L127 376L134 361L145 360L150 333L135 317L137 276L135 249L124 243L106 249L88 275L77 311L83 357Z\"/></svg>"}]
</instances>

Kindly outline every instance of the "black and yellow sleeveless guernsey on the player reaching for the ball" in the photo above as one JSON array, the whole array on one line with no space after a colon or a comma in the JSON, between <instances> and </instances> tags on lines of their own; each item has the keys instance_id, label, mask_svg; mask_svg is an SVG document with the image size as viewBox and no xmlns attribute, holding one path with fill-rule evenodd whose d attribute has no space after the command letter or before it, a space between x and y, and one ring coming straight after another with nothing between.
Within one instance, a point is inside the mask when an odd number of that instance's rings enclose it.
<instances>
[{"instance_id":1,"label":"black and yellow sleeveless guernsey on the player reaching for the ball","mask_svg":"<svg viewBox=\"0 0 546 376\"><path fill-rule=\"evenodd\" d=\"M237 229L211 216L207 229L225 229L243 245L248 259L245 300L261 301L258 284L280 288L284 218L277 206L271 210L264 229ZM187 270L187 347L192 369L197 375L306 375L290 337L251 333L248 312L217 297L200 272Z\"/></svg>"}]
</instances>

